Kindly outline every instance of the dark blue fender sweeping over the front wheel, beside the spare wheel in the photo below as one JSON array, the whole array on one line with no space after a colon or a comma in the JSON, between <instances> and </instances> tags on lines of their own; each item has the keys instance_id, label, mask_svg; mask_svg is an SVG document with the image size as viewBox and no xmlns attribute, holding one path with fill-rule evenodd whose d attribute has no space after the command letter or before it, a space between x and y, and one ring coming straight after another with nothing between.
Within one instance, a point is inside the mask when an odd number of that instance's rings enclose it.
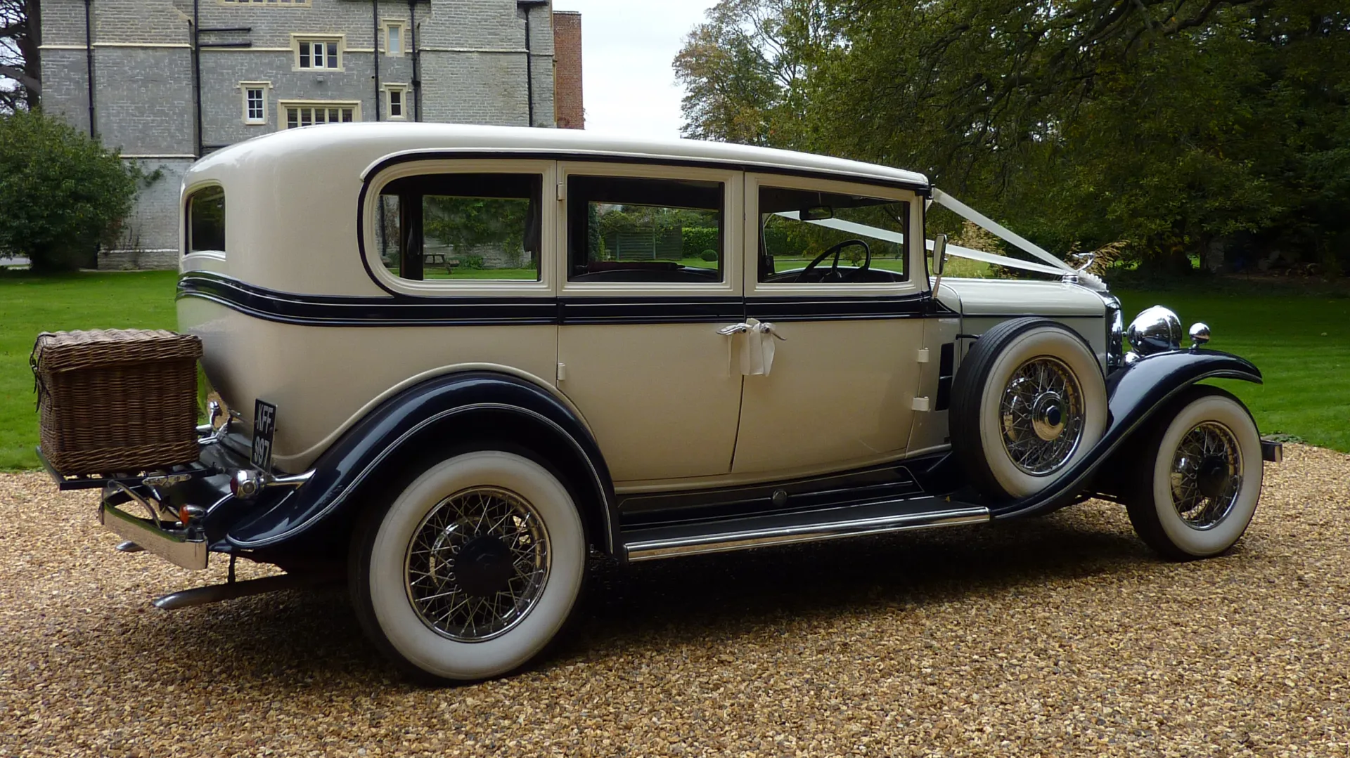
<instances>
[{"instance_id":1,"label":"dark blue fender sweeping over the front wheel, beside the spare wheel","mask_svg":"<svg viewBox=\"0 0 1350 758\"><path fill-rule=\"evenodd\" d=\"M1107 426L1092 450L1073 464L1058 483L1042 492L990 507L994 518L1037 515L1077 498L1111 455L1168 401L1204 379L1242 379L1261 383L1251 361L1219 351L1191 349L1152 355L1116 370L1106 382Z\"/></svg>"}]
</instances>

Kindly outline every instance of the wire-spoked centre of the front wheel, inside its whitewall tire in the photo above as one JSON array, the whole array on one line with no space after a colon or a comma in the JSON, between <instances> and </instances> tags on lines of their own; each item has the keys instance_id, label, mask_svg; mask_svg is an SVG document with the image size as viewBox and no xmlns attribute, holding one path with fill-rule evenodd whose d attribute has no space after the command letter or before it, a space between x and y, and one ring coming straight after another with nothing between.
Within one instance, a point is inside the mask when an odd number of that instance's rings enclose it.
<instances>
[{"instance_id":1,"label":"wire-spoked centre of the front wheel, inside its whitewall tire","mask_svg":"<svg viewBox=\"0 0 1350 758\"><path fill-rule=\"evenodd\" d=\"M1242 449L1233 430L1204 421L1181 437L1172 456L1172 504L1191 529L1212 529L1242 491Z\"/></svg>"}]
</instances>

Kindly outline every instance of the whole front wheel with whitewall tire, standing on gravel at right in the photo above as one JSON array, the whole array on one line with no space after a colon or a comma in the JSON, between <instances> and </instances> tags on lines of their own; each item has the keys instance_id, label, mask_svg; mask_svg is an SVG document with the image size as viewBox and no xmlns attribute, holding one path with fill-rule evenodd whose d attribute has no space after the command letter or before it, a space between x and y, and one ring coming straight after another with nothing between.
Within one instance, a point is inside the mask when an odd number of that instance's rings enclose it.
<instances>
[{"instance_id":1,"label":"whole front wheel with whitewall tire, standing on gravel at right","mask_svg":"<svg viewBox=\"0 0 1350 758\"><path fill-rule=\"evenodd\" d=\"M1261 436L1246 406L1216 387L1191 387L1169 410L1139 449L1130 522L1164 557L1218 556L1257 510Z\"/></svg>"}]
</instances>

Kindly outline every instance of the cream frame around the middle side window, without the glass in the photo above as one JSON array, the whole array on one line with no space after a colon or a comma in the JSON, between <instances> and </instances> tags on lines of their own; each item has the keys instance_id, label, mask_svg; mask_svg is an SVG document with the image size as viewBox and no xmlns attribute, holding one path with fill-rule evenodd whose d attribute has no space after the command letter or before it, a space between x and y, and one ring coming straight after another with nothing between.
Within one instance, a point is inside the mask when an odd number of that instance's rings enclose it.
<instances>
[{"instance_id":1,"label":"cream frame around the middle side window, without the glass","mask_svg":"<svg viewBox=\"0 0 1350 758\"><path fill-rule=\"evenodd\" d=\"M558 201L558 256L556 276L559 289L564 295L576 297L662 297L662 295L721 295L740 297L742 294L741 281L744 244L742 213L744 208L744 171L736 169L717 169L701 166L671 166L662 163L599 163L599 162L559 162L558 181L567 187L570 177L616 177L625 179L688 179L722 183L722 279L721 282L572 282L568 279L570 250L567 229L567 204L571 201L570 193L564 189L564 197Z\"/></svg>"}]
</instances>

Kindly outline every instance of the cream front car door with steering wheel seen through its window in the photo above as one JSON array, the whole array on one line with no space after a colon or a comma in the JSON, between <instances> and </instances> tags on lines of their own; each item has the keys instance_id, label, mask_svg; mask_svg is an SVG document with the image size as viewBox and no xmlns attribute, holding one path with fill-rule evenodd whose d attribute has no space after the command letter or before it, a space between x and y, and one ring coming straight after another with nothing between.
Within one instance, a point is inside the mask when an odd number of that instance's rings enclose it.
<instances>
[{"instance_id":1,"label":"cream front car door with steering wheel seen through its window","mask_svg":"<svg viewBox=\"0 0 1350 758\"><path fill-rule=\"evenodd\" d=\"M923 347L911 192L747 174L747 372L732 471L787 477L905 453ZM842 244L838 260L826 251ZM756 252L752 252L756 251ZM817 263L813 266L813 260ZM751 351L755 352L755 351Z\"/></svg>"}]
</instances>

